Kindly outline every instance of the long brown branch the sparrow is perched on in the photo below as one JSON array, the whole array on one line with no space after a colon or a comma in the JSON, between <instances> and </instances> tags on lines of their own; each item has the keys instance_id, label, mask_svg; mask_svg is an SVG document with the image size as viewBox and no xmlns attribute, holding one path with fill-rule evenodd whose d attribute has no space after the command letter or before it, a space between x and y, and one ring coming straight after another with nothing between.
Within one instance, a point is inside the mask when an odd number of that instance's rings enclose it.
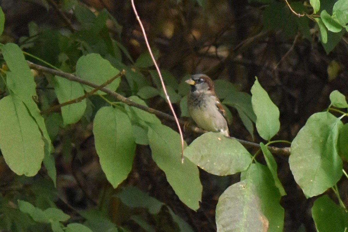
<instances>
[{"instance_id":1,"label":"long brown branch the sparrow is perched on","mask_svg":"<svg viewBox=\"0 0 348 232\"><path fill-rule=\"evenodd\" d=\"M76 77L75 75L73 75L71 73L66 73L66 72L63 72L63 71L50 69L48 67L44 67L44 66L41 66L41 65L38 65L38 64L34 64L34 63L30 62L30 61L27 61L27 62L28 62L29 67L31 69L35 69L35 70L40 71L40 72L56 75L56 76L68 79L70 81L75 81L75 82L78 82L78 83L81 83L81 84L84 84L84 85L87 85L87 86L90 86L90 87L93 87L93 88L98 88L99 87L97 84L95 84L93 82L90 82L90 81L86 81L86 80L81 79L81 78L78 78L78 77ZM167 120L175 121L175 118L172 115L169 115L169 114L163 113L163 112L161 112L159 110L155 110L155 109L152 109L150 107L147 107L147 106L135 103L132 100L130 100L130 99L128 99L128 98L126 98L126 97L124 97L124 96L122 96L122 95L120 95L120 94L118 94L118 93L116 93L116 92L114 92L114 91L112 91L110 89L107 89L107 88L103 87L100 90L103 91L104 93L107 93L110 96L116 98L120 102L123 102L123 103L129 105L129 106L136 107L138 109L141 109L143 111L149 112L151 114L155 114L158 117L161 117L161 118L164 118L164 119L167 119ZM184 121L184 120L181 120L181 119L178 119L178 121L179 121L180 125L182 125L182 126L187 125L187 121ZM193 131L195 133L199 133L199 134L203 134L203 133L206 132L205 130L202 130L202 129L198 128L198 127L191 126L191 125L186 126L185 128L187 128L190 131ZM238 142L240 142L242 145L244 145L247 148L260 148L260 144L257 144L257 143L245 141L245 140L234 138L234 137L229 137L229 138L236 139ZM290 147L279 148L279 147L274 147L274 146L268 146L268 149L273 154L282 155L282 156L289 156L290 155Z\"/></svg>"}]
</instances>

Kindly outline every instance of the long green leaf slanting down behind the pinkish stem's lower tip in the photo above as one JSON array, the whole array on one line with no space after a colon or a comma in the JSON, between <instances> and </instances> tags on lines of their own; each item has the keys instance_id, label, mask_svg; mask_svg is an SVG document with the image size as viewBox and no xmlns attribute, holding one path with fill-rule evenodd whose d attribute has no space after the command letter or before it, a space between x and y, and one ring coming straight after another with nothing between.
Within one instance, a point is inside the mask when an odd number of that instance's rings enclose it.
<instances>
[{"instance_id":1,"label":"long green leaf slanting down behind the pinkish stem's lower tip","mask_svg":"<svg viewBox=\"0 0 348 232\"><path fill-rule=\"evenodd\" d=\"M197 210L202 194L199 172L190 160L181 163L179 134L169 127L154 125L149 127L148 138L152 158L165 172L176 195L189 208Z\"/></svg>"}]
</instances>

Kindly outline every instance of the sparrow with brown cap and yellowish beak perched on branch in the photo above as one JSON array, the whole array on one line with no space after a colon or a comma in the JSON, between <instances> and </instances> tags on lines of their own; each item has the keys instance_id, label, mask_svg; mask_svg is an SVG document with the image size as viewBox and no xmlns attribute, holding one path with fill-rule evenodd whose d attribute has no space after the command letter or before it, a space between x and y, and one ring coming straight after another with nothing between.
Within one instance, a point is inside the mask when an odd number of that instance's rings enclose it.
<instances>
[{"instance_id":1,"label":"sparrow with brown cap and yellowish beak perched on branch","mask_svg":"<svg viewBox=\"0 0 348 232\"><path fill-rule=\"evenodd\" d=\"M226 112L215 94L213 81L205 74L196 74L185 82L191 85L187 106L193 121L204 130L229 137Z\"/></svg>"}]
</instances>

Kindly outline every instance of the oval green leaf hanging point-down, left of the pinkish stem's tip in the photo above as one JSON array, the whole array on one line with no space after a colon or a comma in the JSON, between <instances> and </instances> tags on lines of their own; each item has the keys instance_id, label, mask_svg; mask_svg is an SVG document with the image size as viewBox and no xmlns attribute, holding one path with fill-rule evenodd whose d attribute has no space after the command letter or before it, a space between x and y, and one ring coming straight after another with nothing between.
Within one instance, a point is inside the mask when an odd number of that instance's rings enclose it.
<instances>
[{"instance_id":1,"label":"oval green leaf hanging point-down, left of the pinkish stem's tip","mask_svg":"<svg viewBox=\"0 0 348 232\"><path fill-rule=\"evenodd\" d=\"M132 169L135 139L127 114L111 106L102 107L93 124L95 149L108 181L116 188Z\"/></svg>"}]
</instances>

